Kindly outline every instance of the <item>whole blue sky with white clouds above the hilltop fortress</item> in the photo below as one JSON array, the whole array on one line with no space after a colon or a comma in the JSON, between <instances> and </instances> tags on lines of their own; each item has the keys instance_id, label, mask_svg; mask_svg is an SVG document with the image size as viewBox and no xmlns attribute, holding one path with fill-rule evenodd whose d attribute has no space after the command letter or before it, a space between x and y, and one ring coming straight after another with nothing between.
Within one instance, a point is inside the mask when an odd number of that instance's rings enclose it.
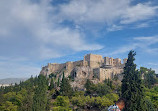
<instances>
[{"instance_id":1,"label":"whole blue sky with white clouds above the hilltop fortress","mask_svg":"<svg viewBox=\"0 0 158 111\"><path fill-rule=\"evenodd\" d=\"M0 0L0 79L88 53L158 73L158 0Z\"/></svg>"}]
</instances>

